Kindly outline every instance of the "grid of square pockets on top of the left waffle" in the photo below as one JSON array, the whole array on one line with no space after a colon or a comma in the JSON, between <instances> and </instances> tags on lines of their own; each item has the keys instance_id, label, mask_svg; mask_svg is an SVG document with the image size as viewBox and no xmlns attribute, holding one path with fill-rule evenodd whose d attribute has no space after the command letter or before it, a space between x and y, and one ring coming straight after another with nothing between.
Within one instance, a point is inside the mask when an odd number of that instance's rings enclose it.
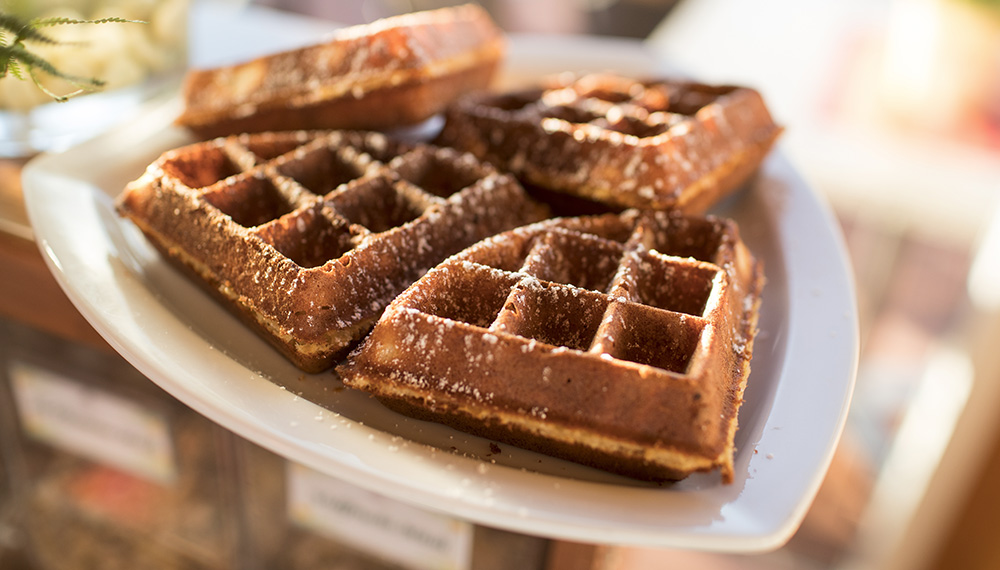
<instances>
[{"instance_id":1,"label":"grid of square pockets on top of the left waffle","mask_svg":"<svg viewBox=\"0 0 1000 570\"><path fill-rule=\"evenodd\" d=\"M339 259L495 176L448 149L408 149L373 136L319 137L290 149L280 142L237 139L215 147L208 160L216 168L199 173L204 179L185 179L171 160L163 168L303 268Z\"/></svg>"}]
</instances>

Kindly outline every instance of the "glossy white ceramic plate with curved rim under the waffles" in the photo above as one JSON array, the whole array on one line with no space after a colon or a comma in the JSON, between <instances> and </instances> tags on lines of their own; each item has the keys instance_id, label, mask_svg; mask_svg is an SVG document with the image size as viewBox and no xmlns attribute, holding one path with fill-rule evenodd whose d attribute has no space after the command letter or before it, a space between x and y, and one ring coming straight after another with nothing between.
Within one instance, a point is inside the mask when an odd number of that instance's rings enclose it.
<instances>
[{"instance_id":1,"label":"glossy white ceramic plate with curved rim under the waffles","mask_svg":"<svg viewBox=\"0 0 1000 570\"><path fill-rule=\"evenodd\" d=\"M655 74L635 42L514 37L508 77L566 69ZM176 104L24 172L38 243L66 293L125 358L222 426L359 487L479 524L591 543L762 551L795 530L850 402L857 315L833 217L782 157L717 209L766 263L736 481L648 485L398 416L305 376L168 266L112 200L188 141Z\"/></svg>"}]
</instances>

